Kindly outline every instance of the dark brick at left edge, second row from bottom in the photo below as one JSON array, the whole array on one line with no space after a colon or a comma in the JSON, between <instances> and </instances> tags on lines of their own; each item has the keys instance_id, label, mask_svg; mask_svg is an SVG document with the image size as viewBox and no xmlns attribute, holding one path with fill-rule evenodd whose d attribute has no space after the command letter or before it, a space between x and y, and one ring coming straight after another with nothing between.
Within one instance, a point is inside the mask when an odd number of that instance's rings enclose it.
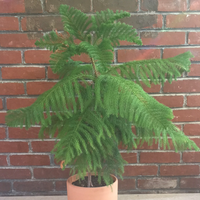
<instances>
[{"instance_id":1,"label":"dark brick at left edge, second row from bottom","mask_svg":"<svg viewBox=\"0 0 200 200\"><path fill-rule=\"evenodd\" d=\"M0 179L30 179L29 169L0 169Z\"/></svg>"}]
</instances>

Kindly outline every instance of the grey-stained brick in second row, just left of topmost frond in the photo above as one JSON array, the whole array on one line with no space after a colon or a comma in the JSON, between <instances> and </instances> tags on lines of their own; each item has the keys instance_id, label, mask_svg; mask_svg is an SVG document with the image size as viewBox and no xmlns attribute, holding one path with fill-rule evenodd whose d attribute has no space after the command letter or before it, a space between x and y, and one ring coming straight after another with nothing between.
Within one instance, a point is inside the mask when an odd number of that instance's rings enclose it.
<instances>
[{"instance_id":1,"label":"grey-stained brick in second row, just left of topmost frond","mask_svg":"<svg viewBox=\"0 0 200 200\"><path fill-rule=\"evenodd\" d=\"M21 25L23 31L63 30L61 18L57 16L24 17L21 21Z\"/></svg>"}]
</instances>

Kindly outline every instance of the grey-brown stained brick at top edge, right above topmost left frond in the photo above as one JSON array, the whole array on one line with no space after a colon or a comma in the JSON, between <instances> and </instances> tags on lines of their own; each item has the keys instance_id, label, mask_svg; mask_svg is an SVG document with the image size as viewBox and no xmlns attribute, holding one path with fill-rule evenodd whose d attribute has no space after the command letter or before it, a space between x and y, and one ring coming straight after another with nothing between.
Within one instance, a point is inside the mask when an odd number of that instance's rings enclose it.
<instances>
[{"instance_id":1,"label":"grey-brown stained brick at top edge, right above topmost left frond","mask_svg":"<svg viewBox=\"0 0 200 200\"><path fill-rule=\"evenodd\" d=\"M73 0L46 0L45 8L49 13L58 13L61 4L67 4L68 6L75 7L84 13L90 12L90 0L73 1Z\"/></svg>"}]
</instances>

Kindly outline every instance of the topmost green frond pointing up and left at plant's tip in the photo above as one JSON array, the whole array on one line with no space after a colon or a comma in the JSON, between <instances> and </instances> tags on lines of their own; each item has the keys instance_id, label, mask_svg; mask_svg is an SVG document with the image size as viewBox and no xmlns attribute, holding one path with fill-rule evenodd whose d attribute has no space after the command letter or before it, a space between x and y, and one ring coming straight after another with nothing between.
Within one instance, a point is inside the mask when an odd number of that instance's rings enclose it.
<instances>
[{"instance_id":1,"label":"topmost green frond pointing up and left at plant's tip","mask_svg":"<svg viewBox=\"0 0 200 200\"><path fill-rule=\"evenodd\" d=\"M77 39L84 41L87 35L84 33L91 25L90 18L80 10L68 5L60 6L60 15L64 24L64 30Z\"/></svg>"}]
</instances>

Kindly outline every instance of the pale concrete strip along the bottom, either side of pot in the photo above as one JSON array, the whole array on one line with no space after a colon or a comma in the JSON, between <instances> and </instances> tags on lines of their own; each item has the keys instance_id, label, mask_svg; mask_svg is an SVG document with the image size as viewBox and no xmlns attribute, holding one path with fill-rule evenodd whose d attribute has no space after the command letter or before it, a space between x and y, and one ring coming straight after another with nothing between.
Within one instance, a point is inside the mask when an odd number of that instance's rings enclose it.
<instances>
[{"instance_id":1,"label":"pale concrete strip along the bottom, either side of pot","mask_svg":"<svg viewBox=\"0 0 200 200\"><path fill-rule=\"evenodd\" d=\"M0 200L67 200L66 196L0 197ZM200 194L119 195L118 200L200 200Z\"/></svg>"}]
</instances>

